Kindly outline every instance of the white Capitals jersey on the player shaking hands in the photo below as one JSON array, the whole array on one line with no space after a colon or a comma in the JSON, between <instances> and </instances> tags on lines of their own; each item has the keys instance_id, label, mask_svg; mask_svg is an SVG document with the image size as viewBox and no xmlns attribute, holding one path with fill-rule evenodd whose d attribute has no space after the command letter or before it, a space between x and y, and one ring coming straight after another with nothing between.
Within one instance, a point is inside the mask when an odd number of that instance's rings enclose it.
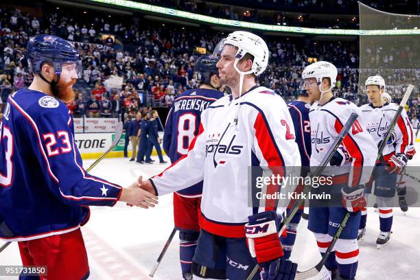
<instances>
[{"instance_id":1,"label":"white Capitals jersey on the player shaking hands","mask_svg":"<svg viewBox=\"0 0 420 280\"><path fill-rule=\"evenodd\" d=\"M248 216L269 209L249 205L250 167L269 167L269 176L279 171L275 167L300 165L288 107L270 89L254 86L236 100L230 95L207 107L188 154L151 181L163 195L204 180L200 226L215 235L245 237Z\"/></svg>"}]
</instances>

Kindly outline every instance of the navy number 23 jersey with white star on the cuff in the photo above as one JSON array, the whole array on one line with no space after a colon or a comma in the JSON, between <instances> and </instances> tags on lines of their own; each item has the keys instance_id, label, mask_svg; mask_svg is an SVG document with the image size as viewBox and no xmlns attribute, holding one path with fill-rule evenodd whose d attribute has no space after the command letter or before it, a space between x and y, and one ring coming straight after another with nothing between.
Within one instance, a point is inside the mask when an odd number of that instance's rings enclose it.
<instances>
[{"instance_id":1,"label":"navy number 23 jersey with white star on the cuff","mask_svg":"<svg viewBox=\"0 0 420 280\"><path fill-rule=\"evenodd\" d=\"M82 167L67 106L39 91L8 98L0 124L0 238L68 233L89 218L87 205L113 206L121 187Z\"/></svg>"}]
</instances>

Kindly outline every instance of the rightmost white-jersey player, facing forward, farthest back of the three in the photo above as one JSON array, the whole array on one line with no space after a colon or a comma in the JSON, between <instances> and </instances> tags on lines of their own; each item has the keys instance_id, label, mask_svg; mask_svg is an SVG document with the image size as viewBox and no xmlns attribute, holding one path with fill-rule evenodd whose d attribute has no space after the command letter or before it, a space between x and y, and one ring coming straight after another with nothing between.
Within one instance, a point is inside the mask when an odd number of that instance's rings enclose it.
<instances>
[{"instance_id":1,"label":"rightmost white-jersey player, facing forward, farthest back of the three","mask_svg":"<svg viewBox=\"0 0 420 280\"><path fill-rule=\"evenodd\" d=\"M363 119L366 123L366 129L371 134L375 143L379 146L384 140L388 131L389 124L397 112L398 105L384 100L385 80L380 75L374 75L367 78L364 83L366 94L369 98L369 104L360 106ZM386 143L382 159L378 161L377 168L373 174L375 188L373 194L376 196L376 203L380 216L380 235L377 237L376 244L381 248L388 243L390 239L393 224L393 197L395 196L397 185L397 174L404 171L406 167L410 144L412 144L412 127L405 110L397 120L393 134ZM414 149L414 147L411 145ZM414 155L414 153L412 153ZM412 157L412 156L411 156ZM369 184L367 191L370 193L372 183ZM401 195L404 192L401 191ZM358 240L366 233L367 211L363 209L362 219Z\"/></svg>"}]
</instances>

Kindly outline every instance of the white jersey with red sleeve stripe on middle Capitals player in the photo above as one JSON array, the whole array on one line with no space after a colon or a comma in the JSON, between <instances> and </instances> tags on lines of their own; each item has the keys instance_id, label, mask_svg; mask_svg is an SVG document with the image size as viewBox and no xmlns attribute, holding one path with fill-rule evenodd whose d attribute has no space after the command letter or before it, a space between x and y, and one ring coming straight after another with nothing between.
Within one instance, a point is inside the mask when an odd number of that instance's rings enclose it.
<instances>
[{"instance_id":1,"label":"white jersey with red sleeve stripe on middle Capitals player","mask_svg":"<svg viewBox=\"0 0 420 280\"><path fill-rule=\"evenodd\" d=\"M333 97L322 106L318 102L312 105L310 109L312 142L310 165L311 170L316 170L316 167L320 165L351 113L357 113L359 117L343 139L342 145L349 152L352 161L339 168L327 168L323 175L349 174L349 187L355 187L369 181L377 158L377 145L364 128L360 109L348 100Z\"/></svg>"}]
</instances>

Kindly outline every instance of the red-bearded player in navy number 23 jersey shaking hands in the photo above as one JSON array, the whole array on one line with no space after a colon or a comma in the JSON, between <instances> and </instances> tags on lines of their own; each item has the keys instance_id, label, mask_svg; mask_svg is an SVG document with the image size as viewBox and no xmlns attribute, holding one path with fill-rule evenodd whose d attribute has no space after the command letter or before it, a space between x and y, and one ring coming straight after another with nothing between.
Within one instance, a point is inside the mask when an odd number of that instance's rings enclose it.
<instances>
[{"instance_id":1,"label":"red-bearded player in navy number 23 jersey shaking hands","mask_svg":"<svg viewBox=\"0 0 420 280\"><path fill-rule=\"evenodd\" d=\"M23 266L47 266L47 278L38 279L87 279L80 226L89 220L88 206L124 201L148 208L156 197L138 183L123 189L83 169L64 103L80 78L73 45L37 35L27 58L34 82L8 98L0 123L0 238L18 242Z\"/></svg>"}]
</instances>

